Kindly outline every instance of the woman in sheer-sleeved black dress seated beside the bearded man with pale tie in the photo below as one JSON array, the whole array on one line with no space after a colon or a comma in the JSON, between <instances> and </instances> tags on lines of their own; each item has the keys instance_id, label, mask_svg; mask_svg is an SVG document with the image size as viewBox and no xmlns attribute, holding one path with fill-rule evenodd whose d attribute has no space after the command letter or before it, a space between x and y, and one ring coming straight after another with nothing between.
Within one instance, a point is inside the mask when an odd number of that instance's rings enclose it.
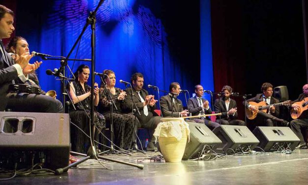
<instances>
[{"instance_id":1,"label":"woman in sheer-sleeved black dress seated beside the bearded man with pale tie","mask_svg":"<svg viewBox=\"0 0 308 185\"><path fill-rule=\"evenodd\" d=\"M111 98L115 103L117 109L113 105L113 129L114 129L114 138L115 145L122 149L130 149L135 141L135 116L123 114L122 109L126 109L124 99L126 97L126 92L122 91L115 86L115 74L112 70L105 69L104 74L108 75L109 78L105 78L106 83L105 88L104 84L101 84L100 88L100 101L99 101L99 112L104 115L107 122L111 120ZM109 92L109 93L108 93ZM111 98L110 98L110 95ZM129 97L128 97L129 98ZM136 118L137 128L139 121Z\"/></svg>"}]
</instances>

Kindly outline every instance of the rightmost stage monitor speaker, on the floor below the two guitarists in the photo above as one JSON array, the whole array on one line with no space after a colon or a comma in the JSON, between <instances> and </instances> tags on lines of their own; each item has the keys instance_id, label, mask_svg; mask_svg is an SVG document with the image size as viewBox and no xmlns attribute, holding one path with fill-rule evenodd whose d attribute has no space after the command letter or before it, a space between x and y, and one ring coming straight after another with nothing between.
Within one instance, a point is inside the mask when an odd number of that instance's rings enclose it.
<instances>
[{"instance_id":1,"label":"rightmost stage monitor speaker, on the floor below the two guitarists","mask_svg":"<svg viewBox=\"0 0 308 185\"><path fill-rule=\"evenodd\" d=\"M294 150L300 139L289 127L279 126L257 126L253 134L258 138L258 147L267 151L278 151L283 149ZM258 149L260 151L260 149Z\"/></svg>"}]
</instances>

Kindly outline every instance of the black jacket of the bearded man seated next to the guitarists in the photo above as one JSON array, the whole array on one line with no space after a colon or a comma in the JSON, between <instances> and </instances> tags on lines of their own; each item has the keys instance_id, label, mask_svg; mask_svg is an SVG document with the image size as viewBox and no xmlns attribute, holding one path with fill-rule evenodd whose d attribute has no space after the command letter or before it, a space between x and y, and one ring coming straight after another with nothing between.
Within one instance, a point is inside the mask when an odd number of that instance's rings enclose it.
<instances>
[{"instance_id":1,"label":"black jacket of the bearded man seated next to the guitarists","mask_svg":"<svg viewBox=\"0 0 308 185\"><path fill-rule=\"evenodd\" d=\"M215 113L219 113L219 101L220 101L220 112L222 113L221 115L221 119L226 120L226 119L231 119L231 120L235 120L237 118L237 112L233 115L229 115L229 117L227 116L227 112L236 107L236 101L234 99L230 98L230 104L229 104L229 109L227 110L225 103L224 103L224 97L221 97L219 99L215 100L214 103L214 110Z\"/></svg>"}]
</instances>

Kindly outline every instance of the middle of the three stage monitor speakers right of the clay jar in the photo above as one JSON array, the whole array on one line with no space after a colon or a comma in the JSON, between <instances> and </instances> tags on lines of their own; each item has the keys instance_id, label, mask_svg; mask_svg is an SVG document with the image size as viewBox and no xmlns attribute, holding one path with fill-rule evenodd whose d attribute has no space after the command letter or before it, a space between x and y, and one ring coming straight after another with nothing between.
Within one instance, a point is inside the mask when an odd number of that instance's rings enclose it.
<instances>
[{"instance_id":1,"label":"middle of the three stage monitor speakers right of the clay jar","mask_svg":"<svg viewBox=\"0 0 308 185\"><path fill-rule=\"evenodd\" d=\"M217 153L234 154L234 152L251 152L259 144L259 140L247 126L220 125L213 132L223 142L214 150Z\"/></svg>"}]
</instances>

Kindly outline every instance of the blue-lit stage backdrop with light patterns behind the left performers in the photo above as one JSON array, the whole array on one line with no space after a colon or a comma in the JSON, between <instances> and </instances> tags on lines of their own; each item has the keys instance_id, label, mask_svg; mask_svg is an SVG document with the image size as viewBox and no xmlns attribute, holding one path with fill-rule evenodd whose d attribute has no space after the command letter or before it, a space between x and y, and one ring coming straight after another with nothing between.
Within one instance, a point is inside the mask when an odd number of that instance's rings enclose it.
<instances>
[{"instance_id":1,"label":"blue-lit stage backdrop with light patterns behind the left performers","mask_svg":"<svg viewBox=\"0 0 308 185\"><path fill-rule=\"evenodd\" d=\"M16 35L27 38L30 51L66 57L81 33L89 12L98 2L37 1L36 6L31 7L27 2L18 1ZM191 5L193 8L187 8L187 15L177 16L174 14L186 8L184 4L177 5L176 9L173 4L161 0L106 0L96 16L95 71L112 69L117 78L116 87L121 89L125 87L118 80L130 81L133 73L141 72L144 74L144 86L151 84L168 91L171 82L178 82L182 89L192 94L194 86L200 83L200 47L195 42L199 41L200 35L199 2L195 4ZM184 22L181 20L184 16L192 21ZM88 27L70 58L90 59L90 39L91 29ZM35 60L41 59L35 57ZM73 72L81 63L90 65L90 62L68 62ZM59 61L43 61L37 70L43 90L61 93L61 82L45 74L46 69L53 70L59 66ZM95 81L100 84L99 77ZM206 82L202 80L202 83ZM157 95L152 90L149 92ZM185 101L184 95L179 98ZM58 99L61 100L59 95Z\"/></svg>"}]
</instances>

